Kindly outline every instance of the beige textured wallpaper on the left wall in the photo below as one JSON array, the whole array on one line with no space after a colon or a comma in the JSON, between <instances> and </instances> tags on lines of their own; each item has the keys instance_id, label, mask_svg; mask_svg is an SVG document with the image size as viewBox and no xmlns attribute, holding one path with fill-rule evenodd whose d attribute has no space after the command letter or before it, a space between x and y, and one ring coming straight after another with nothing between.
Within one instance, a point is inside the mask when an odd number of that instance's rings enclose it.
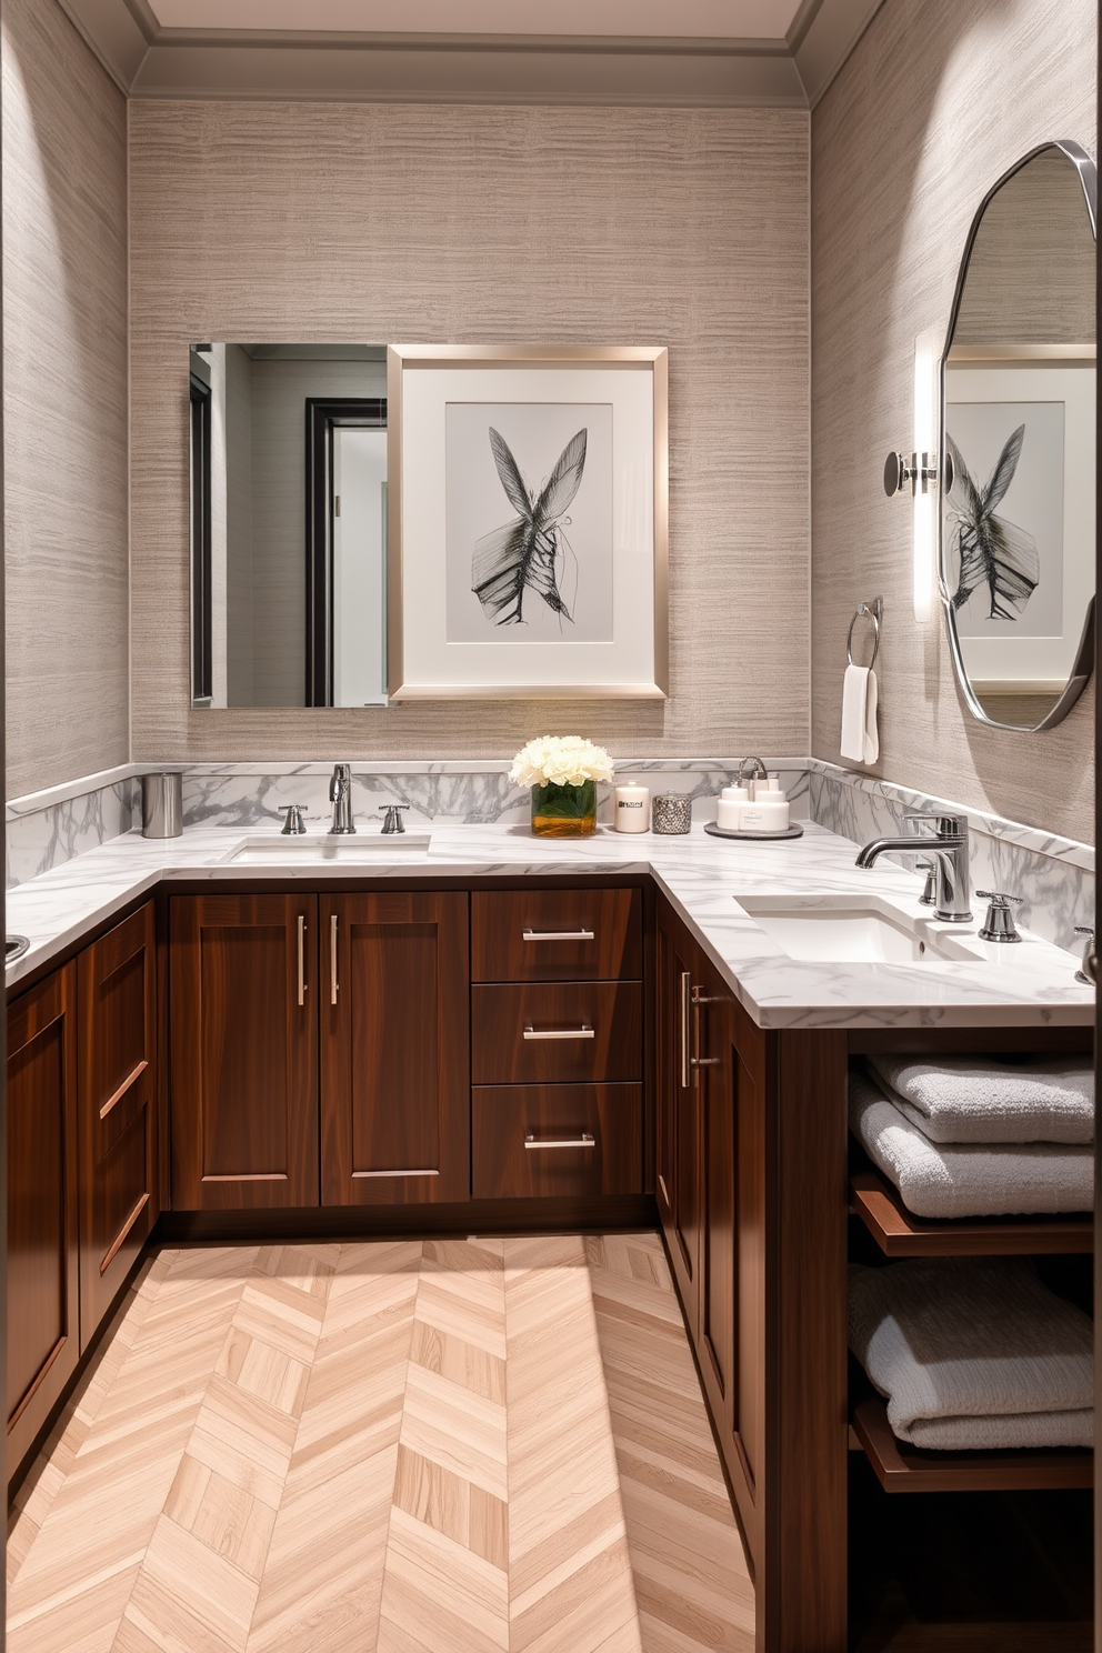
<instances>
[{"instance_id":1,"label":"beige textured wallpaper on the left wall","mask_svg":"<svg viewBox=\"0 0 1102 1653\"><path fill-rule=\"evenodd\" d=\"M129 757L126 101L3 0L7 795Z\"/></svg>"}]
</instances>

